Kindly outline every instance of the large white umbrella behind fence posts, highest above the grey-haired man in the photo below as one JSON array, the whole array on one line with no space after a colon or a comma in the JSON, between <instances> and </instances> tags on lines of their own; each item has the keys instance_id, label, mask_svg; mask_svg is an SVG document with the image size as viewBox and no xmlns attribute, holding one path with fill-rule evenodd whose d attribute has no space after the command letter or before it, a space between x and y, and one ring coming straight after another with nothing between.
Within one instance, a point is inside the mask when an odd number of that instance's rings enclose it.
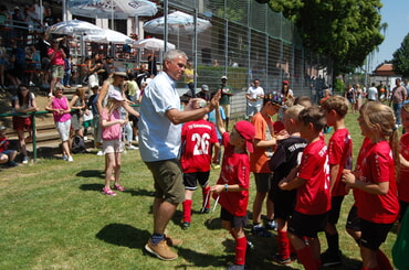
<instances>
[{"instance_id":1,"label":"large white umbrella behind fence posts, highest above the grey-haired man","mask_svg":"<svg viewBox=\"0 0 409 270\"><path fill-rule=\"evenodd\" d=\"M195 18L181 11L168 14L168 32L170 34L193 35ZM211 26L207 20L197 18L197 33L203 32ZM156 18L144 23L144 30L148 33L164 34L165 17Z\"/></svg>"}]
</instances>

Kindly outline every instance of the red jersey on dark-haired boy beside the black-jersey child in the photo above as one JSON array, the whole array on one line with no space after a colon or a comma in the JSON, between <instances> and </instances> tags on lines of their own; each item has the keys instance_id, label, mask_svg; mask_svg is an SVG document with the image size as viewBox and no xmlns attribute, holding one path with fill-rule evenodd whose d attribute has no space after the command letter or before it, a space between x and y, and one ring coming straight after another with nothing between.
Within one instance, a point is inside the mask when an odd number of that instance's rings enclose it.
<instances>
[{"instance_id":1,"label":"red jersey on dark-haired boy beside the black-jersey child","mask_svg":"<svg viewBox=\"0 0 409 270\"><path fill-rule=\"evenodd\" d=\"M300 164L300 179L306 180L297 188L295 210L305 215L325 214L331 208L329 166L325 141L306 145Z\"/></svg>"}]
</instances>

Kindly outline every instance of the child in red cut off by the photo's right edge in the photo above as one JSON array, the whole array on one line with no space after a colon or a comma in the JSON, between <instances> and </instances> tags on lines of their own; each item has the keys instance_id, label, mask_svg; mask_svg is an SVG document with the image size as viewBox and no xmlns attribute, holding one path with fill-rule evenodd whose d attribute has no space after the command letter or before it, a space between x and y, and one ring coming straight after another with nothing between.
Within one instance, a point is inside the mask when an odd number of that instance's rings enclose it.
<instances>
[{"instance_id":1,"label":"child in red cut off by the photo's right edge","mask_svg":"<svg viewBox=\"0 0 409 270\"><path fill-rule=\"evenodd\" d=\"M409 206L409 102L405 101L400 110L401 122L403 129L407 131L400 138L399 152L400 152L400 170L396 180L398 185L398 198L400 204L399 213L399 228L406 209Z\"/></svg>"}]
</instances>

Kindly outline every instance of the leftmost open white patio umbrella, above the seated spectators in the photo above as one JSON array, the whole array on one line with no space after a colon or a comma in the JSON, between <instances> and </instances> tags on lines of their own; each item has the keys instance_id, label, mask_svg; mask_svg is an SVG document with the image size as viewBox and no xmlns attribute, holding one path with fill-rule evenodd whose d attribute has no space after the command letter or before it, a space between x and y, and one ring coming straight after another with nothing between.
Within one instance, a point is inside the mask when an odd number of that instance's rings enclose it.
<instances>
[{"instance_id":1,"label":"leftmost open white patio umbrella, above the seated spectators","mask_svg":"<svg viewBox=\"0 0 409 270\"><path fill-rule=\"evenodd\" d=\"M96 26L90 22L80 20L64 21L51 25L48 30L50 34L66 34L66 35L99 35L104 34L102 28Z\"/></svg>"}]
</instances>

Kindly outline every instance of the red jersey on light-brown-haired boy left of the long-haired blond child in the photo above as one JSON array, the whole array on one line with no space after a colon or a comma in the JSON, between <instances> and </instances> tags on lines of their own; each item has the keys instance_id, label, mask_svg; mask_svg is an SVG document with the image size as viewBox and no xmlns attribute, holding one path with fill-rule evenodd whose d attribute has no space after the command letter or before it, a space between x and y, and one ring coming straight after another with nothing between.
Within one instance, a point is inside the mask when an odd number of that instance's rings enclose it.
<instances>
[{"instance_id":1,"label":"red jersey on light-brown-haired boy left of the long-haired blond child","mask_svg":"<svg viewBox=\"0 0 409 270\"><path fill-rule=\"evenodd\" d=\"M353 169L353 140L347 129L338 129L329 139L328 143L329 165L339 164L338 175L336 177L332 196L344 196L347 193L345 183L340 182L343 170Z\"/></svg>"}]
</instances>

